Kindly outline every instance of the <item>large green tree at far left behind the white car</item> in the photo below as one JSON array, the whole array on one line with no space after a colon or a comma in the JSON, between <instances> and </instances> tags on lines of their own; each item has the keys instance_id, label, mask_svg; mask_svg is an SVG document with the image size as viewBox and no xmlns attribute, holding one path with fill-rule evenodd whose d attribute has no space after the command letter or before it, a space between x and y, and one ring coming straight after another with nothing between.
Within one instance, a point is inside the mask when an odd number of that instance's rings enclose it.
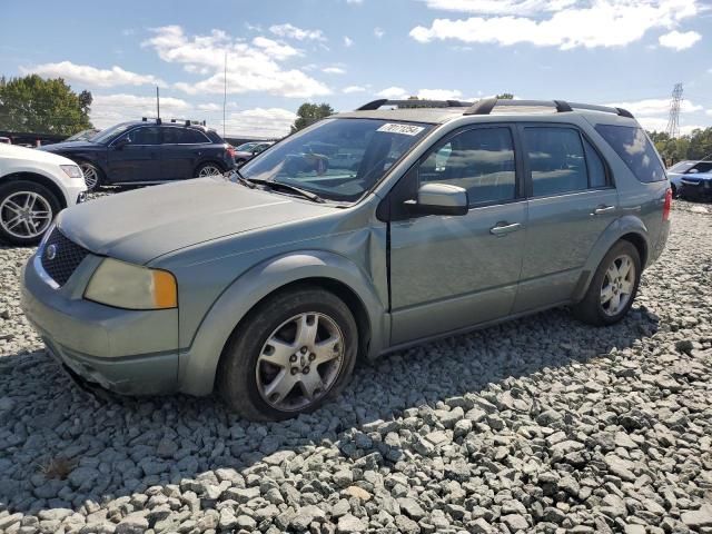
<instances>
[{"instance_id":1,"label":"large green tree at far left behind the white car","mask_svg":"<svg viewBox=\"0 0 712 534\"><path fill-rule=\"evenodd\" d=\"M91 128L91 92L78 95L61 78L1 78L0 130L71 136Z\"/></svg>"}]
</instances>

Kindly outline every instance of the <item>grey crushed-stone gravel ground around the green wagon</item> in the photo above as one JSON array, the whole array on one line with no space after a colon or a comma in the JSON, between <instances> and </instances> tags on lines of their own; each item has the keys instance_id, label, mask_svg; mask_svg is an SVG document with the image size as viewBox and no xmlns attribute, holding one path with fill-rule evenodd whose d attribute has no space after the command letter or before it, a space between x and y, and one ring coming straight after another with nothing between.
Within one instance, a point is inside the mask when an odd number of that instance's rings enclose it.
<instances>
[{"instance_id":1,"label":"grey crushed-stone gravel ground around the green wagon","mask_svg":"<svg viewBox=\"0 0 712 534\"><path fill-rule=\"evenodd\" d=\"M621 324L564 310L360 367L310 416L99 405L0 249L0 532L712 533L712 208L675 202Z\"/></svg>"}]
</instances>

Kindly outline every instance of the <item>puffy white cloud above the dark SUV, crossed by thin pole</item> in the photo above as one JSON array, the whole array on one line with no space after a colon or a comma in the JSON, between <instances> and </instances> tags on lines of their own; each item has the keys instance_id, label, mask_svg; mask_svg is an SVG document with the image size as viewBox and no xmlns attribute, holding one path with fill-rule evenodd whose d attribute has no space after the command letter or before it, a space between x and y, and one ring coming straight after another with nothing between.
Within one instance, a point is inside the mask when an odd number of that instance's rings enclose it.
<instances>
[{"instance_id":1,"label":"puffy white cloud above the dark SUV, crossed by thin pole","mask_svg":"<svg viewBox=\"0 0 712 534\"><path fill-rule=\"evenodd\" d=\"M204 80L175 85L188 95L222 92L226 52L227 90L231 95L254 91L310 98L330 92L327 86L301 70L284 68L281 62L299 51L265 37L256 37L248 43L220 30L186 36L181 27L166 26L155 29L154 37L144 46L156 50L164 61L208 69L211 76Z\"/></svg>"}]
</instances>

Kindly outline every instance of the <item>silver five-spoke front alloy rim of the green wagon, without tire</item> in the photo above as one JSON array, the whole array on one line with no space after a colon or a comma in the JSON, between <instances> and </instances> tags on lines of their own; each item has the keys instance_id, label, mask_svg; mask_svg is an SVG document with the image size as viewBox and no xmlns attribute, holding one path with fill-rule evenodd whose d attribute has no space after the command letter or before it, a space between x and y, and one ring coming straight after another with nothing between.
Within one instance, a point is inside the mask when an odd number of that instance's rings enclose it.
<instances>
[{"instance_id":1,"label":"silver five-spoke front alloy rim of the green wagon, without tire","mask_svg":"<svg viewBox=\"0 0 712 534\"><path fill-rule=\"evenodd\" d=\"M320 313L296 315L267 338L255 377L263 399L283 412L308 407L324 397L344 363L344 335Z\"/></svg>"}]
</instances>

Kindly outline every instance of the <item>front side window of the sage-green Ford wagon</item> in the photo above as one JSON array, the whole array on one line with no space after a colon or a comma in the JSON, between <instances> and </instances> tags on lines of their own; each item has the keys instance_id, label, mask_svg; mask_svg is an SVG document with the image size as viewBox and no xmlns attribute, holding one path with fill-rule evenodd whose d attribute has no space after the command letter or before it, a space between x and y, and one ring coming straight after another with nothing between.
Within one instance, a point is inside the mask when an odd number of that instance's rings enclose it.
<instances>
[{"instance_id":1,"label":"front side window of the sage-green Ford wagon","mask_svg":"<svg viewBox=\"0 0 712 534\"><path fill-rule=\"evenodd\" d=\"M467 190L469 204L516 197L514 144L508 128L466 130L435 146L418 168L421 184L437 181Z\"/></svg>"}]
</instances>

